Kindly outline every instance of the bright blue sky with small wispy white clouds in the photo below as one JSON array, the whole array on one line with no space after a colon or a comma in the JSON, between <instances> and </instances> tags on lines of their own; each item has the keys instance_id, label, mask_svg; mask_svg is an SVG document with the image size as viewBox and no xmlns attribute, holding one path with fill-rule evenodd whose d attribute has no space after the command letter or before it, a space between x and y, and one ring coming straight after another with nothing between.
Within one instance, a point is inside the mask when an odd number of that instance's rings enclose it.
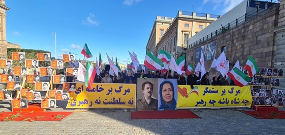
<instances>
[{"instance_id":1,"label":"bright blue sky with small wispy white clouds","mask_svg":"<svg viewBox=\"0 0 285 135\"><path fill-rule=\"evenodd\" d=\"M7 41L25 49L40 49L56 58L80 54L87 43L93 58L117 56L127 63L134 51L142 63L156 16L175 17L178 11L223 15L243 0L6 0ZM93 60L94 60L93 59ZM89 58L88 60L91 60Z\"/></svg>"}]
</instances>

